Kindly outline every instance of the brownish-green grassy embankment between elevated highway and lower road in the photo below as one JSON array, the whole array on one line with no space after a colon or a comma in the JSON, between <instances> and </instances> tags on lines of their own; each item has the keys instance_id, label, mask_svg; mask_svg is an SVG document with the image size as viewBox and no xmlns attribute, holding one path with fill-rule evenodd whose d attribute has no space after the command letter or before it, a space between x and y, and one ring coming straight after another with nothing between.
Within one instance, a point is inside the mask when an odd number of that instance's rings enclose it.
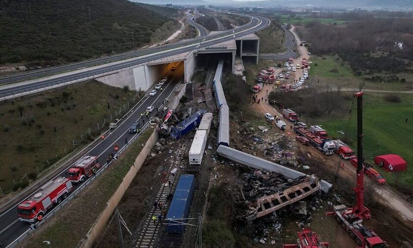
<instances>
[{"instance_id":1,"label":"brownish-green grassy embankment between elevated highway and lower road","mask_svg":"<svg viewBox=\"0 0 413 248\"><path fill-rule=\"evenodd\" d=\"M100 134L104 118L115 118L135 91L111 87L96 81L73 84L55 90L0 103L0 187L11 190L25 173L35 177L72 151ZM131 102L130 102L131 103ZM21 110L21 112L20 112ZM123 114L123 113L122 113ZM119 114L120 117L122 114ZM91 136L87 133L91 132ZM84 141L82 141L81 134ZM36 168L37 167L37 168Z\"/></svg>"}]
</instances>

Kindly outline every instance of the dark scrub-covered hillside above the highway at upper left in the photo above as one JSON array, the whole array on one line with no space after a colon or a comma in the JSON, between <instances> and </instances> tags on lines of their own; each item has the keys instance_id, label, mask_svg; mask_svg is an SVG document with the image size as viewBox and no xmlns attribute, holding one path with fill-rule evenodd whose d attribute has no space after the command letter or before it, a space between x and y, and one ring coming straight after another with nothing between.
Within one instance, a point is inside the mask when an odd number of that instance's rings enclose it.
<instances>
[{"instance_id":1,"label":"dark scrub-covered hillside above the highway at upper left","mask_svg":"<svg viewBox=\"0 0 413 248\"><path fill-rule=\"evenodd\" d=\"M3 0L0 63L53 65L124 52L150 42L168 21L128 0Z\"/></svg>"}]
</instances>

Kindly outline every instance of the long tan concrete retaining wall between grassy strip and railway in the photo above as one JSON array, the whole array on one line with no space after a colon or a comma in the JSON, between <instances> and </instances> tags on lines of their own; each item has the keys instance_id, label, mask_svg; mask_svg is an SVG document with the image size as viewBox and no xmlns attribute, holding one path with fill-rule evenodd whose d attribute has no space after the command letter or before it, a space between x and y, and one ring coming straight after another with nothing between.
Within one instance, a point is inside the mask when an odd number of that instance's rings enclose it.
<instances>
[{"instance_id":1,"label":"long tan concrete retaining wall between grassy strip and railway","mask_svg":"<svg viewBox=\"0 0 413 248\"><path fill-rule=\"evenodd\" d=\"M157 139L158 131L157 128L155 128L153 130L152 135L146 142L145 146L142 148L141 153L139 153L138 157L135 159L135 163L133 164L133 166L130 167L130 170L123 178L123 181L120 183L118 189L109 199L108 203L106 203L106 208L102 211L100 216L96 219L92 227L89 229L88 233L86 234L86 237L84 238L82 244L79 247L91 248L96 239L98 239L102 235L102 231L106 225L106 222L112 216L112 213L118 206L120 199L126 192L133 178L136 176L136 173L138 173L139 169L145 162L145 159L147 158L150 150L152 149L152 146L156 143Z\"/></svg>"}]
</instances>

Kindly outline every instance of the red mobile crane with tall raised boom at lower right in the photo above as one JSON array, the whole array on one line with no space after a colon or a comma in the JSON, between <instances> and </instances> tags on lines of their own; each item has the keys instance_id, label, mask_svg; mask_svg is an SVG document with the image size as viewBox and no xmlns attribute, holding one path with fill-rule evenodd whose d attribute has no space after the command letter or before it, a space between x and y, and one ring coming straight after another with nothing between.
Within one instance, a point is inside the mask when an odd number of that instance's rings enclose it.
<instances>
[{"instance_id":1,"label":"red mobile crane with tall raised boom at lower right","mask_svg":"<svg viewBox=\"0 0 413 248\"><path fill-rule=\"evenodd\" d=\"M353 188L356 194L356 204L352 208L346 205L334 206L334 211L326 215L334 215L341 226L349 233L350 237L355 240L358 248L385 248L386 243L377 234L362 225L363 220L371 218L370 210L364 206L364 168L363 168L363 127L362 127L362 110L363 92L354 94L357 98L357 181L356 187Z\"/></svg>"}]
</instances>

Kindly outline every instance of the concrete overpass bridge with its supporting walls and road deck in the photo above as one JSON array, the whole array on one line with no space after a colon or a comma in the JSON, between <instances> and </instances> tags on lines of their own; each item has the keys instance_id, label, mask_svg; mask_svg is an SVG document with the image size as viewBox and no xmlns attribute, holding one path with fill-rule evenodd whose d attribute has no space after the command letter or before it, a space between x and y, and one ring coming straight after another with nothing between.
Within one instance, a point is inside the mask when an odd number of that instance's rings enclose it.
<instances>
[{"instance_id":1,"label":"concrete overpass bridge with its supporting walls and road deck","mask_svg":"<svg viewBox=\"0 0 413 248\"><path fill-rule=\"evenodd\" d=\"M209 34L195 25L200 35L194 39L2 77L0 101L91 79L146 91L174 63L183 63L187 82L199 58L211 54L226 55L233 69L236 55L246 58L246 62L257 62L259 38L254 33L266 28L270 21L263 17L250 18L251 21L241 27Z\"/></svg>"}]
</instances>

